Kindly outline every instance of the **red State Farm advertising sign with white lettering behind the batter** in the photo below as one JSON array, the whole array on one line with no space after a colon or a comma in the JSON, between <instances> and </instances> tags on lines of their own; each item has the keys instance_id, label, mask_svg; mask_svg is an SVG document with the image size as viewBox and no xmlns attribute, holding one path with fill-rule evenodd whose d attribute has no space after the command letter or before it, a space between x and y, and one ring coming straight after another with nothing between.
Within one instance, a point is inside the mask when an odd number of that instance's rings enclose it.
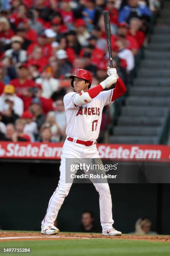
<instances>
[{"instance_id":1,"label":"red State Farm advertising sign with white lettering behind the batter","mask_svg":"<svg viewBox=\"0 0 170 256\"><path fill-rule=\"evenodd\" d=\"M0 142L1 159L60 160L63 143ZM97 144L101 158L114 159L170 159L170 146Z\"/></svg>"}]
</instances>

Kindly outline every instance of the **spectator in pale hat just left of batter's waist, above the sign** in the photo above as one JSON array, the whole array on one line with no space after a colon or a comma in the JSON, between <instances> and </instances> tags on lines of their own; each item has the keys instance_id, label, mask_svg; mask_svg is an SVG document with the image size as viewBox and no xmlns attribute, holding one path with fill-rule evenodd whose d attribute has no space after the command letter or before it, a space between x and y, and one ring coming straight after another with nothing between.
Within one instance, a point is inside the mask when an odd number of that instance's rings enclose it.
<instances>
[{"instance_id":1,"label":"spectator in pale hat just left of batter's waist, above the sign","mask_svg":"<svg viewBox=\"0 0 170 256\"><path fill-rule=\"evenodd\" d=\"M55 112L50 111L47 113L47 117L43 126L49 127L52 133L52 142L61 141L62 137L65 138L65 131L62 131L59 125L56 123Z\"/></svg>"}]
</instances>

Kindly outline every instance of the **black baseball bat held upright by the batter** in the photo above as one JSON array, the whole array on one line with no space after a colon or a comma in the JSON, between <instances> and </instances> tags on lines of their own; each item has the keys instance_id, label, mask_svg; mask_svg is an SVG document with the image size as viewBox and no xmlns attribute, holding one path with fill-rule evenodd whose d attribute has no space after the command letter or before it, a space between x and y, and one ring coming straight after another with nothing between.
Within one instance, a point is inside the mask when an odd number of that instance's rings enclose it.
<instances>
[{"instance_id":1,"label":"black baseball bat held upright by the batter","mask_svg":"<svg viewBox=\"0 0 170 256\"><path fill-rule=\"evenodd\" d=\"M110 33L110 16L109 11L103 12L104 22L105 22L105 31L106 31L106 38L107 38L107 46L109 51L109 59L110 59L110 67L113 67L112 64L112 49L111 49L111 33Z\"/></svg>"}]
</instances>

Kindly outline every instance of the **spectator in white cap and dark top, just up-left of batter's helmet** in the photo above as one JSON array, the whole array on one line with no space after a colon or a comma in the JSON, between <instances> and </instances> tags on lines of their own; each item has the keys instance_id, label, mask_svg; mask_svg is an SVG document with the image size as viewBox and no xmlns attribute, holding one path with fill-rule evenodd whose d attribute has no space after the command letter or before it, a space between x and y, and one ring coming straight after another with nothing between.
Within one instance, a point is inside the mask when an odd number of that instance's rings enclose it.
<instances>
[{"instance_id":1,"label":"spectator in white cap and dark top, just up-left of batter's helmet","mask_svg":"<svg viewBox=\"0 0 170 256\"><path fill-rule=\"evenodd\" d=\"M56 51L56 58L59 64L59 77L62 74L71 72L71 65L67 61L67 52L63 49Z\"/></svg>"}]
</instances>

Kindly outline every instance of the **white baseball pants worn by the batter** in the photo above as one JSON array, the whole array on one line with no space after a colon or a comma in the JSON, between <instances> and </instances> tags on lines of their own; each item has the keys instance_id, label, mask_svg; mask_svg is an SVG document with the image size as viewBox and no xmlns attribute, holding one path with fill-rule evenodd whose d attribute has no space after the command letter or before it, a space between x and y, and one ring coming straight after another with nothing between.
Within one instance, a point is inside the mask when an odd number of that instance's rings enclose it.
<instances>
[{"instance_id":1,"label":"white baseball pants worn by the batter","mask_svg":"<svg viewBox=\"0 0 170 256\"><path fill-rule=\"evenodd\" d=\"M66 158L100 158L96 144L92 146L84 146L78 143L65 140L62 148L61 165L60 165L60 180L52 197L50 198L47 213L42 220L42 226L54 225L57 214L64 202L65 197L70 191L72 183L65 182L65 159ZM112 200L108 183L93 183L99 193L100 204L100 222L102 231L105 232L112 228Z\"/></svg>"}]
</instances>

